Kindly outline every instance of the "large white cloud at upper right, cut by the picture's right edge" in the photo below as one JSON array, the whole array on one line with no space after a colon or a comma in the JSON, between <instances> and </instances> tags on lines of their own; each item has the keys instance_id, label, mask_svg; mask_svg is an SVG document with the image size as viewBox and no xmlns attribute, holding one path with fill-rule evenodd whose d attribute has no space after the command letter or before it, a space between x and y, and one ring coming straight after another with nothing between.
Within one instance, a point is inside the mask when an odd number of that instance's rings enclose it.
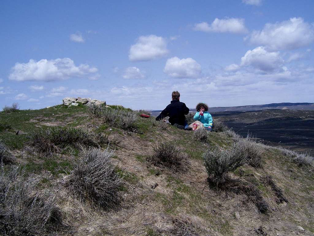
<instances>
[{"instance_id":1,"label":"large white cloud at upper right, cut by the picture's right edge","mask_svg":"<svg viewBox=\"0 0 314 236\"><path fill-rule=\"evenodd\" d=\"M296 49L314 41L314 25L304 22L303 18L266 24L261 31L253 31L250 42L264 45L270 50Z\"/></svg>"}]
</instances>

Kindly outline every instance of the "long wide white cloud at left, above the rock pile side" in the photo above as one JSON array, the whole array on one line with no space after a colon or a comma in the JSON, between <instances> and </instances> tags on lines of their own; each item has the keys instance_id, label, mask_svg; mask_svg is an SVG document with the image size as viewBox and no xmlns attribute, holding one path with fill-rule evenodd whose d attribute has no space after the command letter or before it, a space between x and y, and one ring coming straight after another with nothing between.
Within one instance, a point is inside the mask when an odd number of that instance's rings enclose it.
<instances>
[{"instance_id":1,"label":"long wide white cloud at left, above the rock pile side","mask_svg":"<svg viewBox=\"0 0 314 236\"><path fill-rule=\"evenodd\" d=\"M76 66L70 58L16 63L11 69L10 80L15 81L57 81L71 77L82 77L98 71L87 64Z\"/></svg>"}]
</instances>

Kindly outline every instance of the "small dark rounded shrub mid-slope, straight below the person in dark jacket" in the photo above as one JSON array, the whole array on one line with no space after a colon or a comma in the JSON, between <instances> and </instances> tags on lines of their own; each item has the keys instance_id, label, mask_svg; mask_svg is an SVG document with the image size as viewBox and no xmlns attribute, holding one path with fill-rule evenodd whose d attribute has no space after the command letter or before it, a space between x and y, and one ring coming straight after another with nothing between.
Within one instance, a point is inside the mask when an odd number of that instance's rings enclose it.
<instances>
[{"instance_id":1,"label":"small dark rounded shrub mid-slope, straight below the person in dark jacket","mask_svg":"<svg viewBox=\"0 0 314 236\"><path fill-rule=\"evenodd\" d=\"M153 147L154 154L147 157L146 160L153 162L155 165L163 165L175 170L185 169L187 158L181 155L178 142L162 142Z\"/></svg>"}]
</instances>

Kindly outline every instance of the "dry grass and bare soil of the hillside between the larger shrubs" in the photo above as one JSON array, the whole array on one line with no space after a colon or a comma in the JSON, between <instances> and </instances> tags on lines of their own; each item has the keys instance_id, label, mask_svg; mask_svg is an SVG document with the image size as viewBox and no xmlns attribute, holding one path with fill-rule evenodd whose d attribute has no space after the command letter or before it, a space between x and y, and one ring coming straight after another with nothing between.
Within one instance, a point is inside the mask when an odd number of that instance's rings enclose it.
<instances>
[{"instance_id":1,"label":"dry grass and bare soil of the hillside between the larger shrubs","mask_svg":"<svg viewBox=\"0 0 314 236\"><path fill-rule=\"evenodd\" d=\"M132 113L120 106L106 109ZM232 147L234 137L228 132L209 133L204 143L194 140L191 131L163 126L138 113L132 126L127 121L118 126L111 118L90 115L82 105L0 113L4 127L0 139L15 160L3 170L23 163L27 176L35 180L35 189L42 195L53 194L60 209L62 226L46 228L47 235L313 235L312 167L298 166L282 150L259 144L262 168L244 164L229 173L230 181L216 185L208 180L202 155L208 147ZM89 200L82 202L66 187L80 156L93 143L73 139L77 145L64 145L68 139L59 144L50 140L50 153L40 152L42 146L35 148L36 142L45 142L39 136L34 142L34 132L52 133L51 127L59 126L86 130L90 135L86 137L97 141L98 148L115 149L110 161L124 183L119 188L120 205L105 209ZM22 134L16 135L18 130ZM158 143L173 140L181 157L187 158L179 170L148 161ZM265 181L267 176L277 190ZM261 195L252 194L252 189ZM278 189L286 201L278 200ZM265 213L259 210L258 197L268 205Z\"/></svg>"}]
</instances>

